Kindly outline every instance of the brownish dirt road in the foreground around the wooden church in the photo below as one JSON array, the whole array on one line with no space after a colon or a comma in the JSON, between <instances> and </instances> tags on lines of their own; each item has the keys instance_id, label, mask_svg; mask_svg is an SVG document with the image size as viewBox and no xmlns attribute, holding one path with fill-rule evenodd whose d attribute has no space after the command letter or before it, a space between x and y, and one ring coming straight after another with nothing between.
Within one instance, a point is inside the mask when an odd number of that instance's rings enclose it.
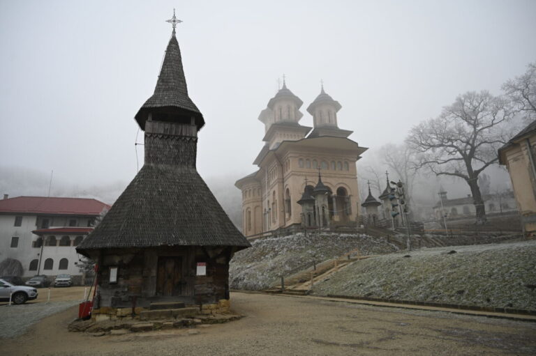
<instances>
[{"instance_id":1,"label":"brownish dirt road in the foreground around the wooden church","mask_svg":"<svg viewBox=\"0 0 536 356\"><path fill-rule=\"evenodd\" d=\"M232 293L241 320L195 330L70 333L68 309L2 341L3 355L534 355L536 324Z\"/></svg>"}]
</instances>

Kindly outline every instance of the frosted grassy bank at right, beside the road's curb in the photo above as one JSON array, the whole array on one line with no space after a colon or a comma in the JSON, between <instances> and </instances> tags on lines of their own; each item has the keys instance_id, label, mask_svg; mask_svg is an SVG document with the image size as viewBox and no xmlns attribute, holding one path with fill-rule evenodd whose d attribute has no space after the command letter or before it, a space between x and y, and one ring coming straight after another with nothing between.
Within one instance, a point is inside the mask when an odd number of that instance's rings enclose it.
<instances>
[{"instance_id":1,"label":"frosted grassy bank at right, beside the road's curb","mask_svg":"<svg viewBox=\"0 0 536 356\"><path fill-rule=\"evenodd\" d=\"M536 241L435 247L356 261L312 292L536 310Z\"/></svg>"}]
</instances>

